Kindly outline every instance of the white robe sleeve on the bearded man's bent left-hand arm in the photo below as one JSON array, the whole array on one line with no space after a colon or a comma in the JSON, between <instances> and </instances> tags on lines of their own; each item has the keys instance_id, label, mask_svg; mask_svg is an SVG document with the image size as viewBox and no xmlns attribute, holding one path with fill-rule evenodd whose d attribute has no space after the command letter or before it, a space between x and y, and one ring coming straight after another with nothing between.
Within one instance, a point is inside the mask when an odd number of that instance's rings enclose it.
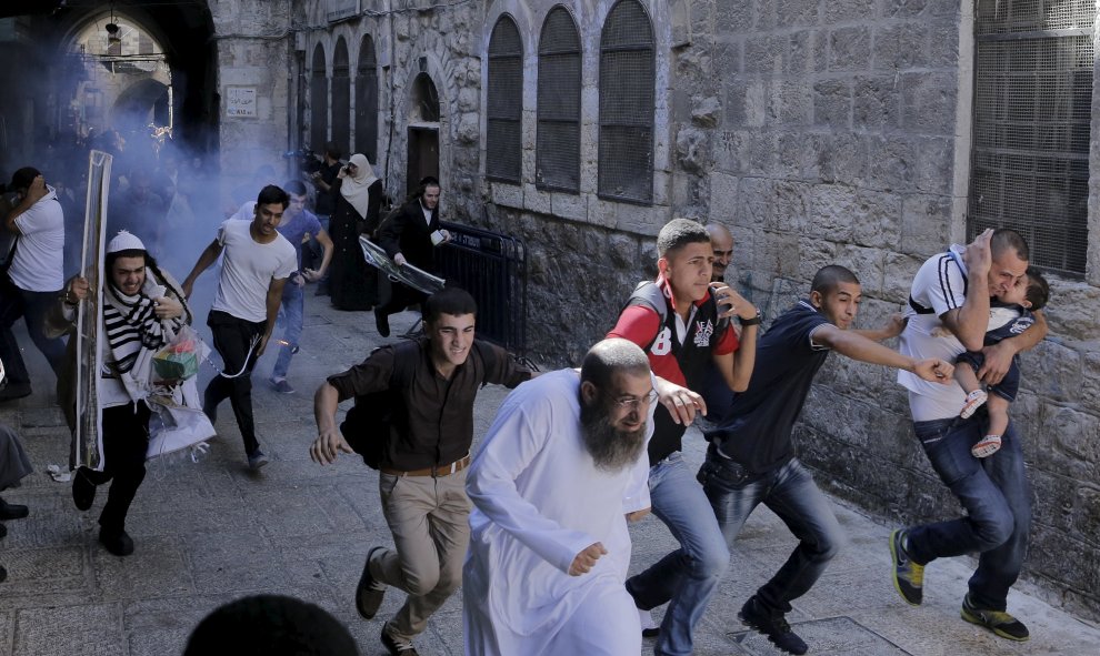
<instances>
[{"instance_id":1,"label":"white robe sleeve on the bearded man's bent left-hand arm","mask_svg":"<svg viewBox=\"0 0 1100 656\"><path fill-rule=\"evenodd\" d=\"M568 573L577 554L598 541L544 517L516 487L516 480L550 438L550 403L522 388L509 395L497 413L467 474L466 492L493 524Z\"/></svg>"}]
</instances>

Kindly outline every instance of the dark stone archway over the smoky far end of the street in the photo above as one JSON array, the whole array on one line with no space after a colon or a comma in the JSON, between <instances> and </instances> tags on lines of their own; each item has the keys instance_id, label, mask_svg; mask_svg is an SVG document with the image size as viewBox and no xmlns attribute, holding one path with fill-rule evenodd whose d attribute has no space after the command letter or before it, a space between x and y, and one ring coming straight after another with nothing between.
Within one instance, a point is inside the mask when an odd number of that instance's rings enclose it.
<instances>
[{"instance_id":1,"label":"dark stone archway over the smoky far end of the street","mask_svg":"<svg viewBox=\"0 0 1100 656\"><path fill-rule=\"evenodd\" d=\"M74 162L82 157L63 158L59 149L82 148L92 125L113 124L117 110L139 105L147 110L138 112L139 125L170 128L166 138L200 157L217 150L218 46L207 2L123 8L83 0L37 9L17 12L30 16L21 16L14 37L0 43L0 88L18 90L0 94L0 172L31 162L48 166L48 160L80 168ZM118 28L117 40L108 42L108 24ZM111 84L99 83L111 77ZM156 80L167 97L143 79ZM141 89L127 91L138 83ZM56 154L43 158L50 150Z\"/></svg>"}]
</instances>

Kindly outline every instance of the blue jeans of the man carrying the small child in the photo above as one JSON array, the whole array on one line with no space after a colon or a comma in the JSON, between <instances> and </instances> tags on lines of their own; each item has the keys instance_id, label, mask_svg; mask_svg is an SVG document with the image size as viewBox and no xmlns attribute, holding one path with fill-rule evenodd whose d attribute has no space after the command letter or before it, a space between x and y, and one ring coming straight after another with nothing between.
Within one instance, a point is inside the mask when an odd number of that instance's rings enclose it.
<instances>
[{"instance_id":1,"label":"blue jeans of the man carrying the small child","mask_svg":"<svg viewBox=\"0 0 1100 656\"><path fill-rule=\"evenodd\" d=\"M980 416L913 422L932 468L967 514L909 528L906 551L917 563L979 553L970 601L979 608L1003 610L1028 552L1031 485L1014 424L1001 435L1000 451L984 458L971 455L970 447L986 435Z\"/></svg>"}]
</instances>

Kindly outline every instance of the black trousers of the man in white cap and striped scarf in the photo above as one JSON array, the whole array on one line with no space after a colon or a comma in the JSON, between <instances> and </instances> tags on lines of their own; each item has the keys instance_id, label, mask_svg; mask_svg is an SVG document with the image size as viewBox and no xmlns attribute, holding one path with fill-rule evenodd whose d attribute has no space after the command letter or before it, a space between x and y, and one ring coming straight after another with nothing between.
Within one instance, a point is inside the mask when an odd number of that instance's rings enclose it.
<instances>
[{"instance_id":1,"label":"black trousers of the man in white cap and striped scarf","mask_svg":"<svg viewBox=\"0 0 1100 656\"><path fill-rule=\"evenodd\" d=\"M102 435L106 466L102 472L88 467L77 471L78 476L84 476L94 485L111 482L107 505L99 515L99 525L109 532L126 528L126 515L146 478L150 414L144 403L104 407Z\"/></svg>"}]
</instances>

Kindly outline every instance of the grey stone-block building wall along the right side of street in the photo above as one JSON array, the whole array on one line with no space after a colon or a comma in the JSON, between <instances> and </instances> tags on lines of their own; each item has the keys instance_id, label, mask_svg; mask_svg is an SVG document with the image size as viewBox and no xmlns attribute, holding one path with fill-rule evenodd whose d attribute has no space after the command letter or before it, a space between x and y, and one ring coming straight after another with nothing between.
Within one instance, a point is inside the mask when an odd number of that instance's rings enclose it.
<instances>
[{"instance_id":1,"label":"grey stone-block building wall along the right side of street","mask_svg":"<svg viewBox=\"0 0 1100 656\"><path fill-rule=\"evenodd\" d=\"M633 284L653 274L653 236L672 216L731 226L731 280L768 316L807 293L821 265L851 268L863 285L861 326L900 311L921 262L964 236L973 87L968 0L643 2L657 39L651 205L594 193L599 36L612 1L563 2L583 46L579 194L541 191L533 180L538 37L554 2L398 7L408 4L363 2L379 13L310 39L378 31L382 98L393 90L398 135L379 148L392 159L390 189L403 189L403 85L414 74L410 67L428 57L450 141L441 155L444 215L526 242L528 346L539 360L576 364L604 334ZM516 20L526 53L520 185L483 178L486 51L503 13ZM354 42L349 38L349 47ZM386 133L380 127L380 140ZM1097 234L1094 178L1090 201ZM1100 248L1090 241L1084 280L1052 282L1051 336L1022 357L1013 415L1036 499L1026 576L1051 601L1100 617ZM833 356L798 441L823 487L891 523L959 513L916 446L892 372Z\"/></svg>"}]
</instances>

